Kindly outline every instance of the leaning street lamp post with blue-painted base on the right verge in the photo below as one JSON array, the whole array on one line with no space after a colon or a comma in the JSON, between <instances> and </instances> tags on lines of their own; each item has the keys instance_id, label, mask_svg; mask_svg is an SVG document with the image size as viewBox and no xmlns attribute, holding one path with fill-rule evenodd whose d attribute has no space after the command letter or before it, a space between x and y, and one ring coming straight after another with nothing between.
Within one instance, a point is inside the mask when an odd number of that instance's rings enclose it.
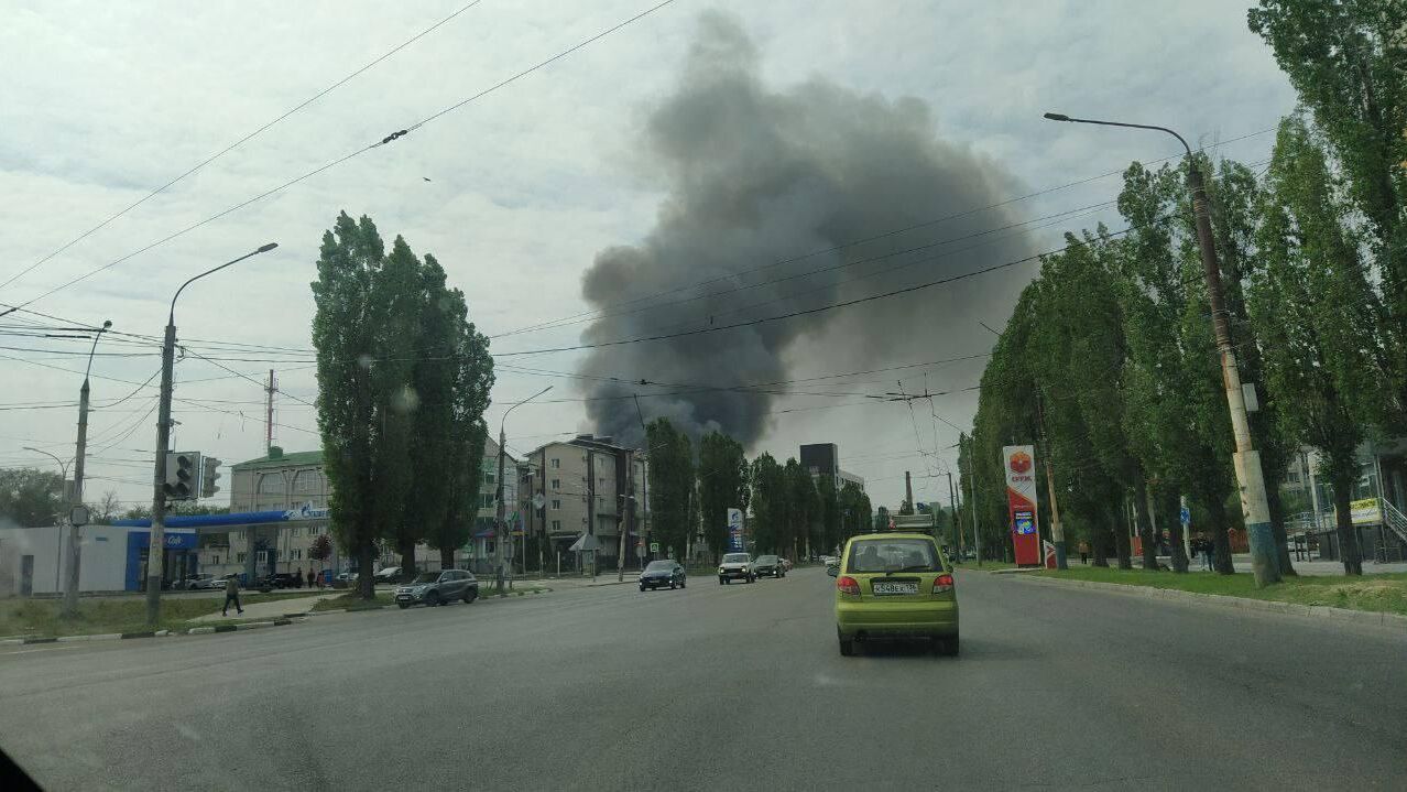
<instances>
[{"instance_id":1,"label":"leaning street lamp post with blue-painted base on the right verge","mask_svg":"<svg viewBox=\"0 0 1407 792\"><path fill-rule=\"evenodd\" d=\"M1251 440L1251 421L1245 411L1245 392L1241 390L1241 370L1237 366L1235 349L1231 346L1231 332L1227 328L1227 309L1221 295L1221 266L1217 263L1216 241L1211 236L1211 214L1207 208L1207 189L1192 156L1192 146L1182 135L1166 127L1150 124L1123 124L1119 121L1096 121L1092 118L1071 118L1061 113L1047 113L1051 121L1071 124L1097 124L1100 127L1127 127L1131 129L1154 129L1166 132L1188 152L1188 191L1192 193L1192 214L1197 222L1197 246L1202 249L1202 269L1207 280L1207 300L1211 304L1211 329L1216 333L1217 352L1221 357L1221 380L1225 385L1227 407L1231 411L1231 430L1235 435L1235 477L1241 491L1241 511L1245 515L1245 532L1251 544L1251 571L1258 588L1280 582L1280 561L1275 549L1275 535L1271 532L1271 506L1265 497L1265 477L1261 473L1261 453Z\"/></svg>"}]
</instances>

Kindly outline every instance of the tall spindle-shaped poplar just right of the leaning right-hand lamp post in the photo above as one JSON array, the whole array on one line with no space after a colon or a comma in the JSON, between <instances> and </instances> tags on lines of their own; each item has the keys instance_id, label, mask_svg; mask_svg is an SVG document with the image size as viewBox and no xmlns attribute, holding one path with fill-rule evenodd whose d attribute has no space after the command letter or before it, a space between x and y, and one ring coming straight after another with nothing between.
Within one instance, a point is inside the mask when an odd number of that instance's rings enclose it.
<instances>
[{"instance_id":1,"label":"tall spindle-shaped poplar just right of the leaning right-hand lamp post","mask_svg":"<svg viewBox=\"0 0 1407 792\"><path fill-rule=\"evenodd\" d=\"M1296 436L1320 450L1344 570L1362 574L1349 501L1363 428L1382 404L1377 312L1348 207L1300 118L1280 124L1261 217L1265 266L1252 281L1251 311L1265 339L1266 385Z\"/></svg>"}]
</instances>

